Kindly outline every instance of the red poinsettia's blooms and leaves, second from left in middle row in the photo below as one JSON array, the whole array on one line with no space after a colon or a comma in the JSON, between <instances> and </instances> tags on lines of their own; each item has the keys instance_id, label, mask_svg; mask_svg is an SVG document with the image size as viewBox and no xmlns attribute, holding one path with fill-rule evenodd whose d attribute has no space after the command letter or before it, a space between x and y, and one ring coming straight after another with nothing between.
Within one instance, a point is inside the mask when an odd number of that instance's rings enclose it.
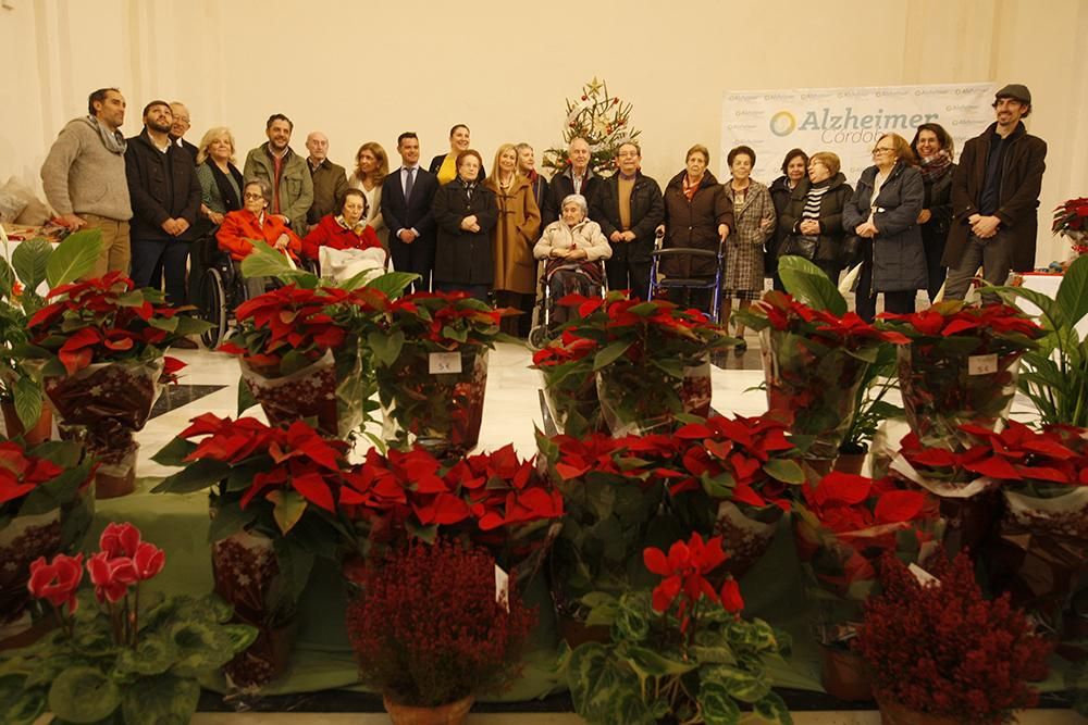
<instances>
[{"instance_id":1,"label":"red poinsettia's blooms and leaves, second from left in middle row","mask_svg":"<svg viewBox=\"0 0 1088 725\"><path fill-rule=\"evenodd\" d=\"M346 537L336 500L349 464L345 441L323 438L305 421L270 426L251 417L205 413L152 458L183 470L153 493L211 490L214 542L240 532L272 539L284 593L297 601L318 557L335 560Z\"/></svg>"}]
</instances>

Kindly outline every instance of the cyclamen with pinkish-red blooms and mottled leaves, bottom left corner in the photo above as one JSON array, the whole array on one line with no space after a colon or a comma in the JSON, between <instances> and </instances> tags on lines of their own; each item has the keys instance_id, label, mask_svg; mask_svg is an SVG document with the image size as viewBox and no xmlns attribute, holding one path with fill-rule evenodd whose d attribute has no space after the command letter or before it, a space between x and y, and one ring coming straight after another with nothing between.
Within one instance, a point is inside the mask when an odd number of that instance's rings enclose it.
<instances>
[{"instance_id":1,"label":"cyclamen with pinkish-red blooms and mottled leaves, bottom left corner","mask_svg":"<svg viewBox=\"0 0 1088 725\"><path fill-rule=\"evenodd\" d=\"M57 554L30 564L30 593L58 627L0 662L4 722L30 725L48 712L67 723L188 722L199 678L244 650L256 632L225 624L214 596L153 597L144 583L165 554L131 524L110 524L84 561ZM84 568L94 593L79 591Z\"/></svg>"}]
</instances>

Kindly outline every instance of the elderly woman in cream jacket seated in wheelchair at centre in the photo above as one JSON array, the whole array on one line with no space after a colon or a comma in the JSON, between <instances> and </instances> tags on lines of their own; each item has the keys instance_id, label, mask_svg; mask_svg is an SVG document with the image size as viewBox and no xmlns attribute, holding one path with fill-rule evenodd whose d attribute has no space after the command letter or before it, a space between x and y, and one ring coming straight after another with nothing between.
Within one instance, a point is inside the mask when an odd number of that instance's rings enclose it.
<instances>
[{"instance_id":1,"label":"elderly woman in cream jacket seated in wheelchair at centre","mask_svg":"<svg viewBox=\"0 0 1088 725\"><path fill-rule=\"evenodd\" d=\"M601 225L585 217L585 197L572 193L562 200L558 221L544 229L533 247L533 257L547 260L544 279L553 300L567 295L595 295L604 284L601 260L611 257L611 246L601 232ZM552 324L566 322L569 310L556 305Z\"/></svg>"}]
</instances>

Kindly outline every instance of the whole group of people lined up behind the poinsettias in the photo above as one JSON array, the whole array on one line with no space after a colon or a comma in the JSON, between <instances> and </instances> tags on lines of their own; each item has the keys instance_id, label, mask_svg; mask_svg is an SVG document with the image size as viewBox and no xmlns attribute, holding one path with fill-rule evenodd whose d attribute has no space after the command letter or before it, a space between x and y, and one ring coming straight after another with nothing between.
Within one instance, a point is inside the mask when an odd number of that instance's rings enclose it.
<instances>
[{"instance_id":1,"label":"whole group of people lined up behind the poinsettias","mask_svg":"<svg viewBox=\"0 0 1088 725\"><path fill-rule=\"evenodd\" d=\"M263 240L296 259L317 260L322 248L360 250L418 274L417 290L494 295L527 313L505 323L524 336L539 263L558 295L599 284L603 261L610 288L646 298L651 252L664 235L666 247L725 246L722 320L733 300L758 299L765 276L780 288L782 254L811 259L832 280L861 263L856 308L871 320L879 293L886 310L911 312L919 289L932 300L944 285L945 298L962 298L980 265L987 282L1000 284L1011 268L1034 264L1047 147L1022 122L1031 110L1026 87L1005 86L993 107L996 122L965 145L959 165L949 133L927 123L910 142L881 135L853 187L833 152L801 149L766 186L751 177L756 153L747 146L729 151L730 178L719 183L709 151L696 145L663 191L642 173L634 141L616 149L616 171L602 177L590 167L590 145L574 138L565 170L548 180L528 143L502 145L485 171L463 124L426 168L418 136L406 132L397 138L398 168L369 141L348 173L329 160L320 132L307 136L306 157L296 153L294 125L279 113L239 171L227 128L210 128L196 146L185 139L182 103L148 103L143 132L124 138L125 100L103 88L90 95L88 115L60 133L41 177L64 224L102 233L94 274L121 270L139 286L164 284L173 304L188 297L193 241L214 236L240 261ZM715 268L678 255L659 272L701 277Z\"/></svg>"}]
</instances>

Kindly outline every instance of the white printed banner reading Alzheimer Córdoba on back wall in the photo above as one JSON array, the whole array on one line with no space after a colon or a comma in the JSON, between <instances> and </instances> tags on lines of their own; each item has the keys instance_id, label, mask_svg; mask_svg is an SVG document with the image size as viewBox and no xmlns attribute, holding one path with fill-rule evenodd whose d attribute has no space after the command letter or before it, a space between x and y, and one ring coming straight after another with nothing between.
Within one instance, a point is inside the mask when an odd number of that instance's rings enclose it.
<instances>
[{"instance_id":1,"label":"white printed banner reading Alzheimer C\u00f3rdoba on back wall","mask_svg":"<svg viewBox=\"0 0 1088 725\"><path fill-rule=\"evenodd\" d=\"M718 178L729 178L726 154L745 145L756 153L752 177L769 185L781 175L790 149L812 155L832 151L853 185L873 165L873 147L893 132L907 141L923 123L939 123L955 142L993 123L996 83L873 88L805 88L795 90L726 91L721 103L721 149Z\"/></svg>"}]
</instances>

